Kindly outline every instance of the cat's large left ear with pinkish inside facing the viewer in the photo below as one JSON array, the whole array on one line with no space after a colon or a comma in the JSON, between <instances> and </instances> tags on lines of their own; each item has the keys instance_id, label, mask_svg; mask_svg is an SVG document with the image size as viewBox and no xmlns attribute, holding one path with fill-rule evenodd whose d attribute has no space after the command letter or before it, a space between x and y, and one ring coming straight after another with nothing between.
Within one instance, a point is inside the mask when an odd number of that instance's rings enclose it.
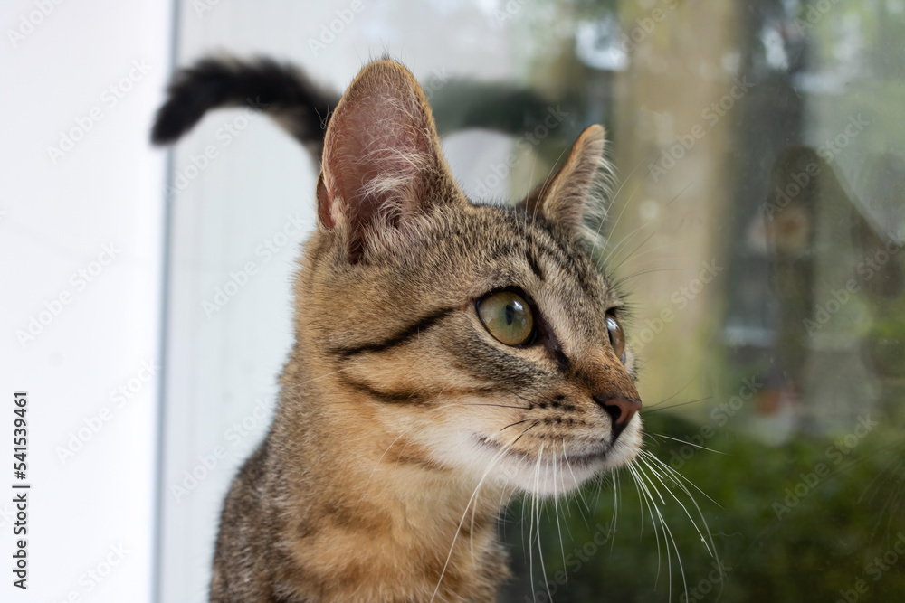
<instances>
[{"instance_id":1,"label":"cat's large left ear with pinkish inside facing the viewer","mask_svg":"<svg viewBox=\"0 0 905 603\"><path fill-rule=\"evenodd\" d=\"M443 159L431 108L395 61L360 71L339 101L318 180L322 228L342 231L355 260L382 228L461 197Z\"/></svg>"}]
</instances>

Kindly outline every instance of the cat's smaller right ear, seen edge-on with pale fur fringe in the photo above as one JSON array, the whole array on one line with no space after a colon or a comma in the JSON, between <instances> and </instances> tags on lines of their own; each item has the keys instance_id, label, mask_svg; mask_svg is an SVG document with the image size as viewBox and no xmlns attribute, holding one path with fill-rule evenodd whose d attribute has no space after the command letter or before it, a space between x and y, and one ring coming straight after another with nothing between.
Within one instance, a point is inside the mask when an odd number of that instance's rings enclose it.
<instances>
[{"instance_id":1,"label":"cat's smaller right ear, seen edge-on with pale fur fringe","mask_svg":"<svg viewBox=\"0 0 905 603\"><path fill-rule=\"evenodd\" d=\"M604 157L602 126L587 127L556 174L519 203L529 214L541 215L571 231L587 231L606 216L612 168Z\"/></svg>"}]
</instances>

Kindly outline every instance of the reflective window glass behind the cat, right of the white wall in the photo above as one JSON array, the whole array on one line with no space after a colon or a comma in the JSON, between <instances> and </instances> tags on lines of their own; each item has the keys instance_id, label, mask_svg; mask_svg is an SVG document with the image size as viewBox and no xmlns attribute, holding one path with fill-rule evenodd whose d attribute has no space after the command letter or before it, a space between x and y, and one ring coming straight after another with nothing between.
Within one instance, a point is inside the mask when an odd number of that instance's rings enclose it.
<instances>
[{"instance_id":1,"label":"reflective window glass behind the cat, right of the white wall","mask_svg":"<svg viewBox=\"0 0 905 603\"><path fill-rule=\"evenodd\" d=\"M386 2L321 39L337 9L183 3L178 62L269 53L341 90L386 50L478 196L518 198L584 126L609 132L601 259L631 294L665 466L546 504L539 539L513 507L500 600L900 599L905 3ZM176 150L179 175L161 597L201 600L291 344L317 174L264 118L222 111Z\"/></svg>"}]
</instances>

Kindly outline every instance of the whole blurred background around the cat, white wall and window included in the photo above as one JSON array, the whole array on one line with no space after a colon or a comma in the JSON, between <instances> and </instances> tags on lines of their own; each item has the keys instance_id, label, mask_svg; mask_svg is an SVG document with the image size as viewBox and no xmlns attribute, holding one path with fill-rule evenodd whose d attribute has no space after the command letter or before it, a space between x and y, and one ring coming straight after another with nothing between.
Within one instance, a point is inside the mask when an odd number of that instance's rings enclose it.
<instances>
[{"instance_id":1,"label":"whole blurred background around the cat, white wall and window included","mask_svg":"<svg viewBox=\"0 0 905 603\"><path fill-rule=\"evenodd\" d=\"M646 446L687 481L589 485L539 538L516 504L500 601L905 597L903 0L31 0L0 24L0 433L29 391L33 484L29 589L3 600L205 600L318 169L239 109L149 146L174 66L224 52L337 91L403 61L476 199L609 132L601 259Z\"/></svg>"}]
</instances>

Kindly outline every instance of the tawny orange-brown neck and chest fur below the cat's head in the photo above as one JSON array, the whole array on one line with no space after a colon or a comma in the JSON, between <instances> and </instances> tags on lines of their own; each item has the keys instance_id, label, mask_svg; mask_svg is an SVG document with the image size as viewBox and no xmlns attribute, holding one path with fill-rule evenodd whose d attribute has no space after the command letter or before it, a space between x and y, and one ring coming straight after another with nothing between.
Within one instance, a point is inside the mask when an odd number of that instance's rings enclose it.
<instances>
[{"instance_id":1,"label":"tawny orange-brown neck and chest fur below the cat's head","mask_svg":"<svg viewBox=\"0 0 905 603\"><path fill-rule=\"evenodd\" d=\"M438 583L437 602L492 600L508 575L497 540L507 493L433 464L338 378L290 363L282 382L272 438L288 453L283 533L300 588L313 574L330 600L362 589L373 591L369 600L430 600Z\"/></svg>"}]
</instances>

